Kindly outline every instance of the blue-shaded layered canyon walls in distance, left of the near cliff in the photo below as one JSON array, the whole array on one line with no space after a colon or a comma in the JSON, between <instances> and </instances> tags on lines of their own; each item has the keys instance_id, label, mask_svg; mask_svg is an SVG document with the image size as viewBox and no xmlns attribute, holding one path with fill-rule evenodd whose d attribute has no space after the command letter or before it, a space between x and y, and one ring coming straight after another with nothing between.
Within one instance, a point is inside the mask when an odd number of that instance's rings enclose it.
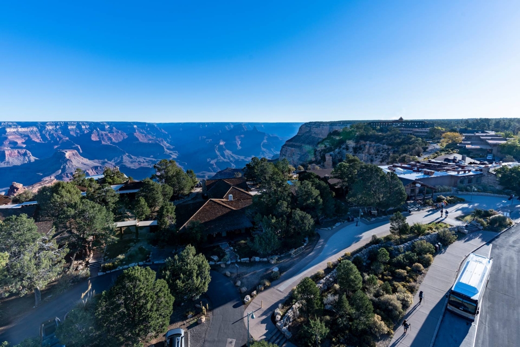
<instances>
[{"instance_id":1,"label":"blue-shaded layered canyon walls in distance, left of the near cliff","mask_svg":"<svg viewBox=\"0 0 520 347\"><path fill-rule=\"evenodd\" d=\"M0 122L0 188L119 166L135 179L174 159L199 177L276 158L302 123Z\"/></svg>"}]
</instances>

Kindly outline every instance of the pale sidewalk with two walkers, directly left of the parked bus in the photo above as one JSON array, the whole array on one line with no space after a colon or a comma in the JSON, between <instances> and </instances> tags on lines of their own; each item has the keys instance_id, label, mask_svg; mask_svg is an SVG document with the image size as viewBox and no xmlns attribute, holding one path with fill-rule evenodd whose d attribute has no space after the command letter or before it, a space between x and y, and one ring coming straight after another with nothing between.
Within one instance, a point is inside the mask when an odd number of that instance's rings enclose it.
<instances>
[{"instance_id":1,"label":"pale sidewalk with two walkers, directly left of the parked bus","mask_svg":"<svg viewBox=\"0 0 520 347\"><path fill-rule=\"evenodd\" d=\"M453 286L460 264L475 249L485 245L497 233L480 231L466 235L435 256L424 281L415 293L413 302L404 319L411 328L405 334L400 325L394 333L390 347L428 347L433 342L440 319L446 306L446 293ZM424 299L419 305L419 291L424 292Z\"/></svg>"}]
</instances>

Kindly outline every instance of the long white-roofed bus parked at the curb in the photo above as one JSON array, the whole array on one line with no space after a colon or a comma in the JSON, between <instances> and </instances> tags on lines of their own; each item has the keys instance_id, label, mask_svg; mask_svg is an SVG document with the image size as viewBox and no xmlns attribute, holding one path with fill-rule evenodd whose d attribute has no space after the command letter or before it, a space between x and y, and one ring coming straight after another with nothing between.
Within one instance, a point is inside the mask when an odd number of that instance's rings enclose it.
<instances>
[{"instance_id":1,"label":"long white-roofed bus parked at the curb","mask_svg":"<svg viewBox=\"0 0 520 347\"><path fill-rule=\"evenodd\" d=\"M493 260L471 253L449 292L448 310L475 320L489 280Z\"/></svg>"}]
</instances>

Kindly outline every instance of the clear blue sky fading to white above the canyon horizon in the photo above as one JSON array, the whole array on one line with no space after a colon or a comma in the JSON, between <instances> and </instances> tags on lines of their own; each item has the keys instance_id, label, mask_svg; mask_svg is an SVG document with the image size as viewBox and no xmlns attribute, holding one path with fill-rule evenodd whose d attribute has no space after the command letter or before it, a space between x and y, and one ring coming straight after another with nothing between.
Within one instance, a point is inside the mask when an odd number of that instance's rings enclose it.
<instances>
[{"instance_id":1,"label":"clear blue sky fading to white above the canyon horizon","mask_svg":"<svg viewBox=\"0 0 520 347\"><path fill-rule=\"evenodd\" d=\"M520 117L518 1L4 1L0 121Z\"/></svg>"}]
</instances>

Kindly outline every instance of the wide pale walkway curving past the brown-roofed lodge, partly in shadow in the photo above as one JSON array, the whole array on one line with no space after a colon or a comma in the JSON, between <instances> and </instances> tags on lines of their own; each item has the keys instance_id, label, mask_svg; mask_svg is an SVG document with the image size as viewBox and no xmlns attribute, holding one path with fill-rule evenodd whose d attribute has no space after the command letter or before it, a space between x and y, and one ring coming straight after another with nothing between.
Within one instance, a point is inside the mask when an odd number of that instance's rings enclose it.
<instances>
[{"instance_id":1,"label":"wide pale walkway curving past the brown-roofed lodge, partly in shadow","mask_svg":"<svg viewBox=\"0 0 520 347\"><path fill-rule=\"evenodd\" d=\"M414 212L407 217L407 222L413 224L422 222L446 222L451 225L460 225L461 221L455 218L461 214L470 213L475 208L511 211L515 208L511 201L499 197L473 196L473 201L466 201L457 205L448 206L449 218L441 218L440 211L423 210ZM327 267L327 262L336 261L345 252L352 252L370 242L372 235L383 237L389 234L388 221L376 224L344 223L332 230L318 230L320 240L314 250L300 263L282 274L280 279L273 281L271 287L259 293L246 308L254 311L256 319L250 321L250 334L255 340L269 339L278 329L271 321L271 315L288 297L292 288L302 278L315 274L319 269ZM475 233L467 238L475 238ZM496 234L495 234L496 235ZM469 241L468 241L469 242ZM450 246L451 247L451 246ZM440 261L439 261L440 262ZM263 306L262 306L263 302ZM245 314L244 314L245 316Z\"/></svg>"}]
</instances>

